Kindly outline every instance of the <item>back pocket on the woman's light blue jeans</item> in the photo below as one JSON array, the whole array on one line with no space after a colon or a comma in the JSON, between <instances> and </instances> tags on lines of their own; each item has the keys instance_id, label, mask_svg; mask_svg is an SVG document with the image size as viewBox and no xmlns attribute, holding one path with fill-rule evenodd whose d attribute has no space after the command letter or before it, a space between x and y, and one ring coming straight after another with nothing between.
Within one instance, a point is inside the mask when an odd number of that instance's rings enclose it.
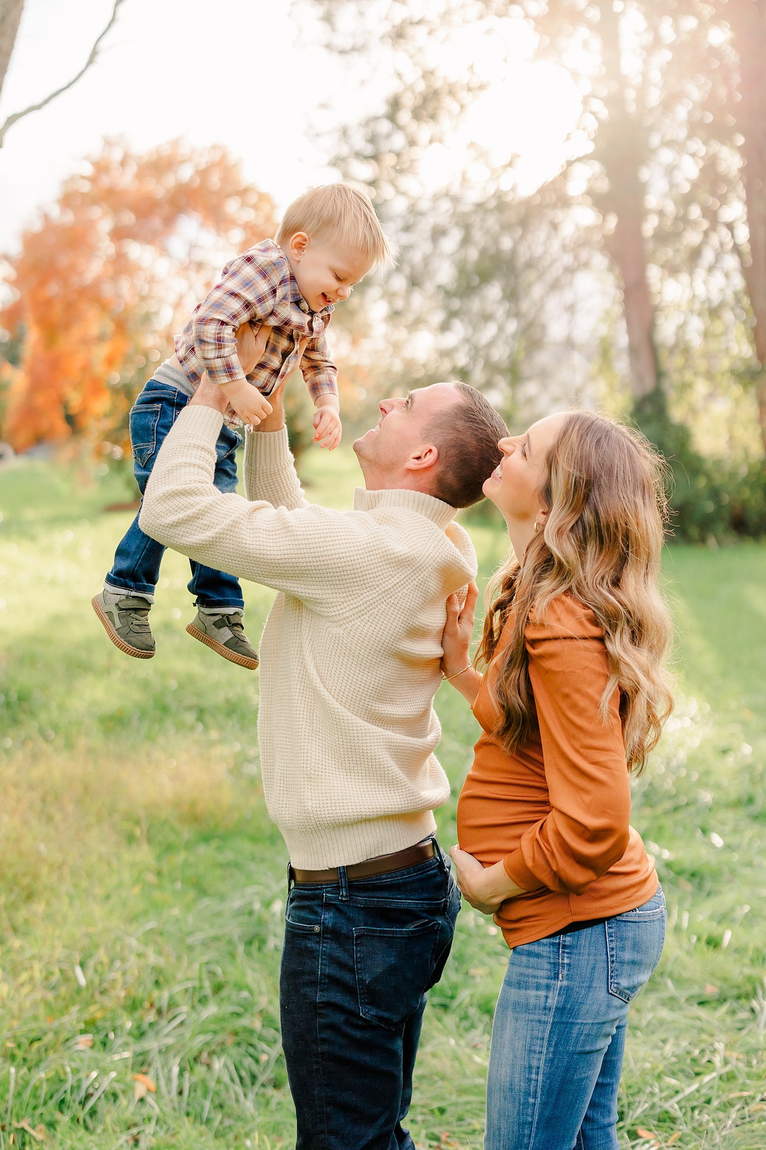
<instances>
[{"instance_id":1,"label":"back pocket on the woman's light blue jeans","mask_svg":"<svg viewBox=\"0 0 766 1150\"><path fill-rule=\"evenodd\" d=\"M660 892L643 906L609 919L609 992L629 1003L659 963L665 944L665 899Z\"/></svg>"}]
</instances>

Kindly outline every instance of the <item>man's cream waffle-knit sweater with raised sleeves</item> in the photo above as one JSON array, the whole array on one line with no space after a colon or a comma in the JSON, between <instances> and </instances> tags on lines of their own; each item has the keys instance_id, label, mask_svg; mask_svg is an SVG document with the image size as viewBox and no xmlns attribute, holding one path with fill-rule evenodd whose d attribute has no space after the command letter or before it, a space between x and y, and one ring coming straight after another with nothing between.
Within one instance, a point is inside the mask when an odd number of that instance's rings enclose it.
<instances>
[{"instance_id":1,"label":"man's cream waffle-knit sweater with raised sleeves","mask_svg":"<svg viewBox=\"0 0 766 1150\"><path fill-rule=\"evenodd\" d=\"M297 867L411 846L449 796L434 750L446 599L474 577L455 511L417 491L308 504L286 431L248 435L247 499L212 485L222 417L179 415L139 523L209 567L280 593L261 644L266 806Z\"/></svg>"}]
</instances>

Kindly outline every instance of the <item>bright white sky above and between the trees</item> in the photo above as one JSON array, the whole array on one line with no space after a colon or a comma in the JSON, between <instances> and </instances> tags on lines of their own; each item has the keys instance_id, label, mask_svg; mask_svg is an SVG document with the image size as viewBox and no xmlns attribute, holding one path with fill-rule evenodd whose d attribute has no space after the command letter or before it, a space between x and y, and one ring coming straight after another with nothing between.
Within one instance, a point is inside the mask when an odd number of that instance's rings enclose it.
<instances>
[{"instance_id":1,"label":"bright white sky above and between the trees","mask_svg":"<svg viewBox=\"0 0 766 1150\"><path fill-rule=\"evenodd\" d=\"M26 0L0 122L82 67L110 10L111 0ZM318 44L315 20L309 5L289 0L125 0L83 79L9 130L0 150L0 251L17 245L22 228L105 136L122 136L136 151L176 137L224 144L279 207L307 184L336 178L318 126L379 106L385 61L381 54L345 71ZM579 107L574 85L551 66L531 63L532 37L505 23L503 34L467 31L447 54L456 72L466 57L479 61L492 86L455 146L432 150L431 186L449 182L472 141L495 159L520 154L526 186L551 175L562 156Z\"/></svg>"}]
</instances>

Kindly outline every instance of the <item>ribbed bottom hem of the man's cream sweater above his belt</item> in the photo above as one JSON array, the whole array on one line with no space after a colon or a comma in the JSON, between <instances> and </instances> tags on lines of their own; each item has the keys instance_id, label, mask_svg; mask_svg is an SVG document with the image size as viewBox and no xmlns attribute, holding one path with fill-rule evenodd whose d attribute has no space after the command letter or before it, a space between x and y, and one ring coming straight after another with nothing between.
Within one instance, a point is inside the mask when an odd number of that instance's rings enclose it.
<instances>
[{"instance_id":1,"label":"ribbed bottom hem of the man's cream sweater above his belt","mask_svg":"<svg viewBox=\"0 0 766 1150\"><path fill-rule=\"evenodd\" d=\"M347 826L301 827L292 831L279 827L287 843L289 860L302 871L324 871L332 866L350 866L379 854L393 854L413 846L436 829L432 811L401 814L395 819L370 819Z\"/></svg>"}]
</instances>

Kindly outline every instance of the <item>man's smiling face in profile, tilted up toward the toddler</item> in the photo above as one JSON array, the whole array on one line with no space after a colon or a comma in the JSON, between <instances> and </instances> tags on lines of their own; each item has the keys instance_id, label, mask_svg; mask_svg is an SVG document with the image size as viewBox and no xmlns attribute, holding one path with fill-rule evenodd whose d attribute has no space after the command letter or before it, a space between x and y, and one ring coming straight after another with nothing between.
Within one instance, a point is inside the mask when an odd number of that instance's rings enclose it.
<instances>
[{"instance_id":1,"label":"man's smiling face in profile, tilted up toward the toddler","mask_svg":"<svg viewBox=\"0 0 766 1150\"><path fill-rule=\"evenodd\" d=\"M459 392L451 383L381 399L378 423L354 443L367 489L427 490L438 460L428 428L436 415L459 404Z\"/></svg>"}]
</instances>

